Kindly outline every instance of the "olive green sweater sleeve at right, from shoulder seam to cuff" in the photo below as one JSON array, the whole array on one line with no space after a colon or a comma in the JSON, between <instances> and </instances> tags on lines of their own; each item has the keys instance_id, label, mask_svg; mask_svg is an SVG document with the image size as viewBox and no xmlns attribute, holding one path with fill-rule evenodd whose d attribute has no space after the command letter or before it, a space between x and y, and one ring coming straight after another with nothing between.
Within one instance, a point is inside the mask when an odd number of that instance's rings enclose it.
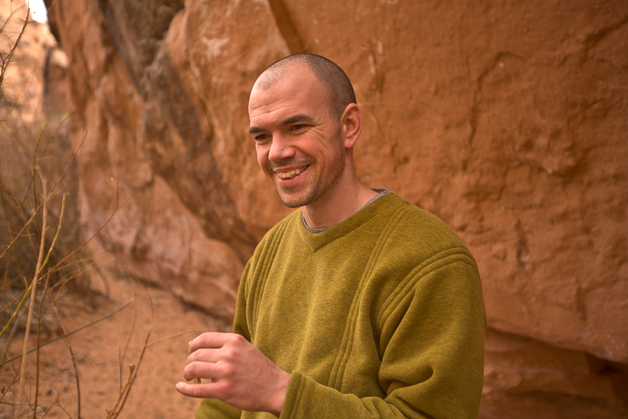
<instances>
[{"instance_id":1,"label":"olive green sweater sleeve at right, from shoulder seam to cuff","mask_svg":"<svg viewBox=\"0 0 628 419\"><path fill-rule=\"evenodd\" d=\"M293 371L281 419L477 418L486 332L477 268L458 255L428 271L382 307L386 397L343 394Z\"/></svg>"}]
</instances>

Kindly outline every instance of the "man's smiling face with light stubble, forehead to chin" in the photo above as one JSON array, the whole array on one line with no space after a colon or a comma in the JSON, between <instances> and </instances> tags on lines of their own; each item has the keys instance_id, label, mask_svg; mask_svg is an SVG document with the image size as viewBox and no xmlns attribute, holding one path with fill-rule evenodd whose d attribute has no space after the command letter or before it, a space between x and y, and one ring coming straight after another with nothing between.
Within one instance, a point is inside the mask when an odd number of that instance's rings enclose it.
<instances>
[{"instance_id":1,"label":"man's smiling face with light stubble, forehead to chin","mask_svg":"<svg viewBox=\"0 0 628 419\"><path fill-rule=\"evenodd\" d=\"M343 133L329 115L326 91L303 66L288 68L268 89L258 84L248 103L257 163L284 205L316 203L338 184L346 164Z\"/></svg>"}]
</instances>

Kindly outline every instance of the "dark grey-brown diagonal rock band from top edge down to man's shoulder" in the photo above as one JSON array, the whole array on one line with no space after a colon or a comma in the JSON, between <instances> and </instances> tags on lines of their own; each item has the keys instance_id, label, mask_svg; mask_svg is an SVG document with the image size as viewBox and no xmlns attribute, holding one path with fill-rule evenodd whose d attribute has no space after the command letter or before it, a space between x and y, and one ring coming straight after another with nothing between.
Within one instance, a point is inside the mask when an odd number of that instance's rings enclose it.
<instances>
[{"instance_id":1,"label":"dark grey-brown diagonal rock band from top edge down to man's shoulder","mask_svg":"<svg viewBox=\"0 0 628 419\"><path fill-rule=\"evenodd\" d=\"M211 124L202 129L198 110L165 52L163 38L183 4L99 0L98 5L112 44L144 100L137 140L153 170L199 217L208 237L232 244L244 263L255 239L239 219L216 167L209 147L213 132L205 132Z\"/></svg>"}]
</instances>

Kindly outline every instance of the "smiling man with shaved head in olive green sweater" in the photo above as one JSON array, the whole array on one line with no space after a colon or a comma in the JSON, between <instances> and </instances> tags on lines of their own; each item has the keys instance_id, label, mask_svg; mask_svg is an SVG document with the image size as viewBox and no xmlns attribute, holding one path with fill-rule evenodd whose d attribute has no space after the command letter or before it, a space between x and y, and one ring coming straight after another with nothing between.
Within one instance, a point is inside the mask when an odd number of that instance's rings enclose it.
<instances>
[{"instance_id":1,"label":"smiling man with shaved head in olive green sweater","mask_svg":"<svg viewBox=\"0 0 628 419\"><path fill-rule=\"evenodd\" d=\"M286 57L248 105L288 207L239 287L234 333L190 342L197 418L477 418L486 317L474 259L435 216L354 175L361 115L331 61Z\"/></svg>"}]
</instances>

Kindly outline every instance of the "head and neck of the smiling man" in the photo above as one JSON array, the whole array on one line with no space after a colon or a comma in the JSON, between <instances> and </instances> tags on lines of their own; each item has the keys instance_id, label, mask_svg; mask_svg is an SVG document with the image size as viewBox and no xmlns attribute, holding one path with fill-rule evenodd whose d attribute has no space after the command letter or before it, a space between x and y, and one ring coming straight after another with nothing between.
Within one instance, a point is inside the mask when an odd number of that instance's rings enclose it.
<instances>
[{"instance_id":1,"label":"head and neck of the smiling man","mask_svg":"<svg viewBox=\"0 0 628 419\"><path fill-rule=\"evenodd\" d=\"M311 66L290 71L299 60ZM361 116L351 83L342 73L323 84L327 74L315 73L318 60L297 55L275 64L257 80L248 104L257 162L283 203L302 207L313 228L343 221L376 195L353 172ZM331 99L337 91L345 93L340 105Z\"/></svg>"}]
</instances>

